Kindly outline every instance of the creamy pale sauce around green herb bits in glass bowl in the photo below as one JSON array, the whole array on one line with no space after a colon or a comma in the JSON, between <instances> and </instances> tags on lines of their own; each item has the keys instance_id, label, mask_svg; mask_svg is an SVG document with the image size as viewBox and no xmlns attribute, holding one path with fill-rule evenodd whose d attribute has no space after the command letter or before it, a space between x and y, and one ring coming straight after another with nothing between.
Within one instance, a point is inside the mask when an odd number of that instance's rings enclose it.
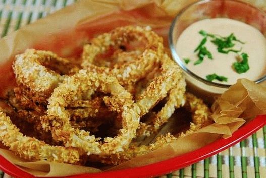
<instances>
[{"instance_id":1,"label":"creamy pale sauce around green herb bits in glass bowl","mask_svg":"<svg viewBox=\"0 0 266 178\"><path fill-rule=\"evenodd\" d=\"M194 52L194 50L203 39L203 36L198 33L200 30L223 37L234 33L236 38L245 42L245 44L234 42L236 45L233 49L238 50L242 47L240 54L245 52L249 55L248 64L250 69L242 74L237 73L232 67L232 64L237 61L237 54L234 52L219 53L217 46L210 42L211 38L209 37L205 46L212 53L213 60L209 60L205 56L201 64L194 65L193 63L198 60L198 52ZM195 22L182 32L177 40L176 50L182 61L184 58L190 58L191 61L184 64L191 72L201 78L206 79L207 75L213 73L228 78L227 82L214 80L213 82L216 83L234 84L239 78L255 81L266 74L266 39L259 30L240 21L215 18Z\"/></svg>"}]
</instances>

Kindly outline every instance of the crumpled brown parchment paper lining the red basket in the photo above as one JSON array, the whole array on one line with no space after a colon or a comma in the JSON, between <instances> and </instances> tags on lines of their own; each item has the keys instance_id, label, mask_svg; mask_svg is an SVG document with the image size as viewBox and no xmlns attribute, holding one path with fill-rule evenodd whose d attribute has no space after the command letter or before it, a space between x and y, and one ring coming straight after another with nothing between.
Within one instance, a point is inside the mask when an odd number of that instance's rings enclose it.
<instances>
[{"instance_id":1,"label":"crumpled brown parchment paper lining the red basket","mask_svg":"<svg viewBox=\"0 0 266 178\"><path fill-rule=\"evenodd\" d=\"M60 56L78 57L82 46L93 36L115 27L138 24L149 25L167 44L168 28L174 16L184 6L196 0L166 1L89 1L82 0L46 18L30 24L0 40L0 93L14 85L11 69L13 56L26 48L51 50ZM266 3L245 0L266 7ZM266 9L266 8L265 8ZM200 147L218 138L229 137L246 120L258 114L266 114L266 88L242 79L226 91L211 107L215 123L162 149L134 158L109 170L146 165L175 157ZM173 116L171 121L179 117ZM168 130L168 125L161 132ZM11 151L0 149L0 154L35 176L66 176L101 170L45 161L27 162ZM64 169L64 171L62 171Z\"/></svg>"}]
</instances>

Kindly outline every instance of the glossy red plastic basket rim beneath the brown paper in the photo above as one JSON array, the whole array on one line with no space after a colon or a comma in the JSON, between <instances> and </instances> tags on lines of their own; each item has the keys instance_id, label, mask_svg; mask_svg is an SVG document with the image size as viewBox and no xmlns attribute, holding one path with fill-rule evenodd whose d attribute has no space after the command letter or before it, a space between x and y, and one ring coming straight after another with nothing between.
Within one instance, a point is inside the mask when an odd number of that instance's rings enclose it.
<instances>
[{"instance_id":1,"label":"glossy red plastic basket rim beneath the brown paper","mask_svg":"<svg viewBox=\"0 0 266 178\"><path fill-rule=\"evenodd\" d=\"M238 129L232 137L228 139L219 139L209 145L206 145L198 150L165 160L154 164L149 164L146 166L128 168L115 171L106 171L101 173L91 173L91 174L80 174L67 176L68 178L99 178L99 177L108 177L108 178L117 178L117 177L154 177L158 175L167 174L174 170L178 170L189 166L193 163L196 163L200 160L208 158L212 155L215 155L233 145L240 142L241 140L252 135L254 132L266 125L266 115L259 115L254 120L250 121L248 124L244 125ZM0 169L6 172L7 174L17 178L17 177L34 177L33 175L24 172L19 167L15 166L4 157L0 156Z\"/></svg>"}]
</instances>

